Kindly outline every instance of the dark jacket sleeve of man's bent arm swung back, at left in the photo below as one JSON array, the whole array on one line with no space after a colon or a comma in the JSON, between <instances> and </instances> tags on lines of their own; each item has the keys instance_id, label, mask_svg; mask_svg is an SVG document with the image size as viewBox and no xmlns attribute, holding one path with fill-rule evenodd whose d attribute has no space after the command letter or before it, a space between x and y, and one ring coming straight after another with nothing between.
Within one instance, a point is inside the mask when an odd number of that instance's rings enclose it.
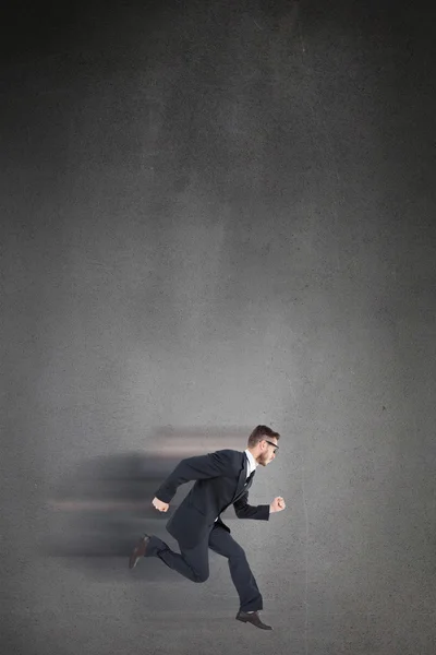
<instances>
[{"instance_id":1,"label":"dark jacket sleeve of man's bent arm swung back, at left","mask_svg":"<svg viewBox=\"0 0 436 655\"><path fill-rule=\"evenodd\" d=\"M208 478L231 475L231 452L232 451L229 450L222 450L216 451L215 453L208 453L207 455L198 455L196 457L182 460L160 485L155 497L162 502L170 502L180 485L184 485L191 480L205 480Z\"/></svg>"}]
</instances>

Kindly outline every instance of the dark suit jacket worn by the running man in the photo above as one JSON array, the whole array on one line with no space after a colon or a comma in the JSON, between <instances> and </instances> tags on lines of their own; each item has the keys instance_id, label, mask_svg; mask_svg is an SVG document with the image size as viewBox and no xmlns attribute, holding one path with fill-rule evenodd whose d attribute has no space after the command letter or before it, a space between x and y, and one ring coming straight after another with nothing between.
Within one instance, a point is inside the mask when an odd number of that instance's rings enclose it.
<instances>
[{"instance_id":1,"label":"dark suit jacket worn by the running man","mask_svg":"<svg viewBox=\"0 0 436 655\"><path fill-rule=\"evenodd\" d=\"M184 548L193 548L208 537L215 519L231 503L238 519L269 520L269 504L247 503L247 457L244 452L221 450L207 455L187 457L178 464L155 496L170 502L177 488L190 480L195 485L167 523L171 536ZM217 523L230 529L219 517Z\"/></svg>"}]
</instances>

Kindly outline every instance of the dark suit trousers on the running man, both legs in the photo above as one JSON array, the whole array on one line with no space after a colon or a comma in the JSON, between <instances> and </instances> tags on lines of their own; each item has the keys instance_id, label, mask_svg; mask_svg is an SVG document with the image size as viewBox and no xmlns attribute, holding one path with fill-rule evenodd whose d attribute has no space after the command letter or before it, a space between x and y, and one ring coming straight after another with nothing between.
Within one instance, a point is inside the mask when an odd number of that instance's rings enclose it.
<instances>
[{"instance_id":1,"label":"dark suit trousers on the running man, both legs","mask_svg":"<svg viewBox=\"0 0 436 655\"><path fill-rule=\"evenodd\" d=\"M229 560L230 575L237 587L240 609L242 611L263 609L262 594L250 569L245 551L227 529L215 524L208 538L194 548L183 548L180 545L179 548L181 555L173 552L165 541L153 535L145 557L158 557L167 567L178 571L187 580L205 582L209 577L208 549L210 548Z\"/></svg>"}]
</instances>

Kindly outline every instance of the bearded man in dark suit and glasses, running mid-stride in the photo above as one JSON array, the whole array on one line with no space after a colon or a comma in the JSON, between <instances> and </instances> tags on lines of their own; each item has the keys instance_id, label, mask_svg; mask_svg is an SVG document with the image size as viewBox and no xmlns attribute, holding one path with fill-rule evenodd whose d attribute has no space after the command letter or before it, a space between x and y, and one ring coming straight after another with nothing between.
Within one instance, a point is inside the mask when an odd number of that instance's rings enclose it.
<instances>
[{"instance_id":1,"label":"bearded man in dark suit and glasses, running mid-stride","mask_svg":"<svg viewBox=\"0 0 436 655\"><path fill-rule=\"evenodd\" d=\"M230 575L240 598L239 621L263 630L272 630L259 619L263 598L251 572L244 550L230 535L220 519L221 512L233 504L238 519L268 521L269 514L284 510L281 497L267 505L247 503L249 489L256 467L267 466L276 457L280 438L267 426L257 426L249 437L244 452L221 450L207 455L182 460L156 491L153 505L168 512L169 502L180 485L196 480L195 485L167 523L167 531L179 543L181 555L152 535L144 535L133 550L129 568L141 557L158 557L193 582L205 582L209 576L208 548L229 560Z\"/></svg>"}]
</instances>

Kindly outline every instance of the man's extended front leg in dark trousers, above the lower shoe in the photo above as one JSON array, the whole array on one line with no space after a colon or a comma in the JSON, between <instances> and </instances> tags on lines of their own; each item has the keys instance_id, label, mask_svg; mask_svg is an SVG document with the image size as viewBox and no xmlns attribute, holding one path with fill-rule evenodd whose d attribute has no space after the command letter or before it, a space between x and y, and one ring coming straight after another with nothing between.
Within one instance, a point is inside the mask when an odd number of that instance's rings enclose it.
<instances>
[{"instance_id":1,"label":"man's extended front leg in dark trousers, above the lower shoe","mask_svg":"<svg viewBox=\"0 0 436 655\"><path fill-rule=\"evenodd\" d=\"M240 598L241 611L261 611L264 607L245 551L223 527L215 525L209 535L209 548L229 560L230 575Z\"/></svg>"}]
</instances>

